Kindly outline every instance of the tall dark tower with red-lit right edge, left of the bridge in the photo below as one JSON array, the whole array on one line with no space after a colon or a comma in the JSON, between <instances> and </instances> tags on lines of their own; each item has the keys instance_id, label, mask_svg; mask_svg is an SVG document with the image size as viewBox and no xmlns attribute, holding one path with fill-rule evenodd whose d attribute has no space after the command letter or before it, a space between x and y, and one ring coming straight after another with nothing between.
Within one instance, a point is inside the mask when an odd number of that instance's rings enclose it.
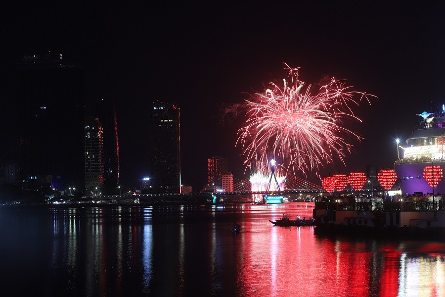
<instances>
[{"instance_id":1,"label":"tall dark tower with red-lit right edge, left of the bridge","mask_svg":"<svg viewBox=\"0 0 445 297\"><path fill-rule=\"evenodd\" d=\"M153 193L179 193L180 121L175 104L153 103L148 112L148 173Z\"/></svg>"}]
</instances>

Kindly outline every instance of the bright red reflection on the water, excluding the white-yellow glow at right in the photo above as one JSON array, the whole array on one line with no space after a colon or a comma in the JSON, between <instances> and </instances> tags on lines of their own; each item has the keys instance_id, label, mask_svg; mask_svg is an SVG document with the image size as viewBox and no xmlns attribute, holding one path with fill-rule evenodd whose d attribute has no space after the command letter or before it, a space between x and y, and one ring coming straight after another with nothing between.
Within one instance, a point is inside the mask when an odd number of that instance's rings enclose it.
<instances>
[{"instance_id":1,"label":"bright red reflection on the water, excluding the white-yellow glow at right","mask_svg":"<svg viewBox=\"0 0 445 297\"><path fill-rule=\"evenodd\" d=\"M362 244L317 239L311 226L268 227L259 236L258 226L243 226L237 281L246 296L368 295L370 253Z\"/></svg>"}]
</instances>

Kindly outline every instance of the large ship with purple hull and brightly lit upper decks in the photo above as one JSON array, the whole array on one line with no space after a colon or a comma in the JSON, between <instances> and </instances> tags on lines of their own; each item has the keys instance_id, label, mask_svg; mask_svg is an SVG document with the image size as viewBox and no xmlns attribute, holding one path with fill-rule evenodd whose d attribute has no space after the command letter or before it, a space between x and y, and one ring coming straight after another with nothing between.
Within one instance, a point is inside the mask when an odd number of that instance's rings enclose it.
<instances>
[{"instance_id":1,"label":"large ship with purple hull and brightly lit upper decks","mask_svg":"<svg viewBox=\"0 0 445 297\"><path fill-rule=\"evenodd\" d=\"M417 115L420 121L402 147L401 158L394 164L401 193L444 194L445 180L441 171L445 171L445 114L423 112ZM436 174L432 174L432 170ZM434 184L437 186L433 188Z\"/></svg>"}]
</instances>

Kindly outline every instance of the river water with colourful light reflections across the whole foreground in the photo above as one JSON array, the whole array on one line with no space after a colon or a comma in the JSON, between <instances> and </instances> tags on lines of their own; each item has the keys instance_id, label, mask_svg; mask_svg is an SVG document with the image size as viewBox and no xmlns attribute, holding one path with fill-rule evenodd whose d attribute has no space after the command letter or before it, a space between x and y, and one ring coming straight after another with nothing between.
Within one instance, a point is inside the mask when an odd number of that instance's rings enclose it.
<instances>
[{"instance_id":1,"label":"river water with colourful light reflections across the whole foreground","mask_svg":"<svg viewBox=\"0 0 445 297\"><path fill-rule=\"evenodd\" d=\"M0 207L2 296L445 296L445 241L324 237L313 202ZM236 222L239 234L232 234Z\"/></svg>"}]
</instances>

